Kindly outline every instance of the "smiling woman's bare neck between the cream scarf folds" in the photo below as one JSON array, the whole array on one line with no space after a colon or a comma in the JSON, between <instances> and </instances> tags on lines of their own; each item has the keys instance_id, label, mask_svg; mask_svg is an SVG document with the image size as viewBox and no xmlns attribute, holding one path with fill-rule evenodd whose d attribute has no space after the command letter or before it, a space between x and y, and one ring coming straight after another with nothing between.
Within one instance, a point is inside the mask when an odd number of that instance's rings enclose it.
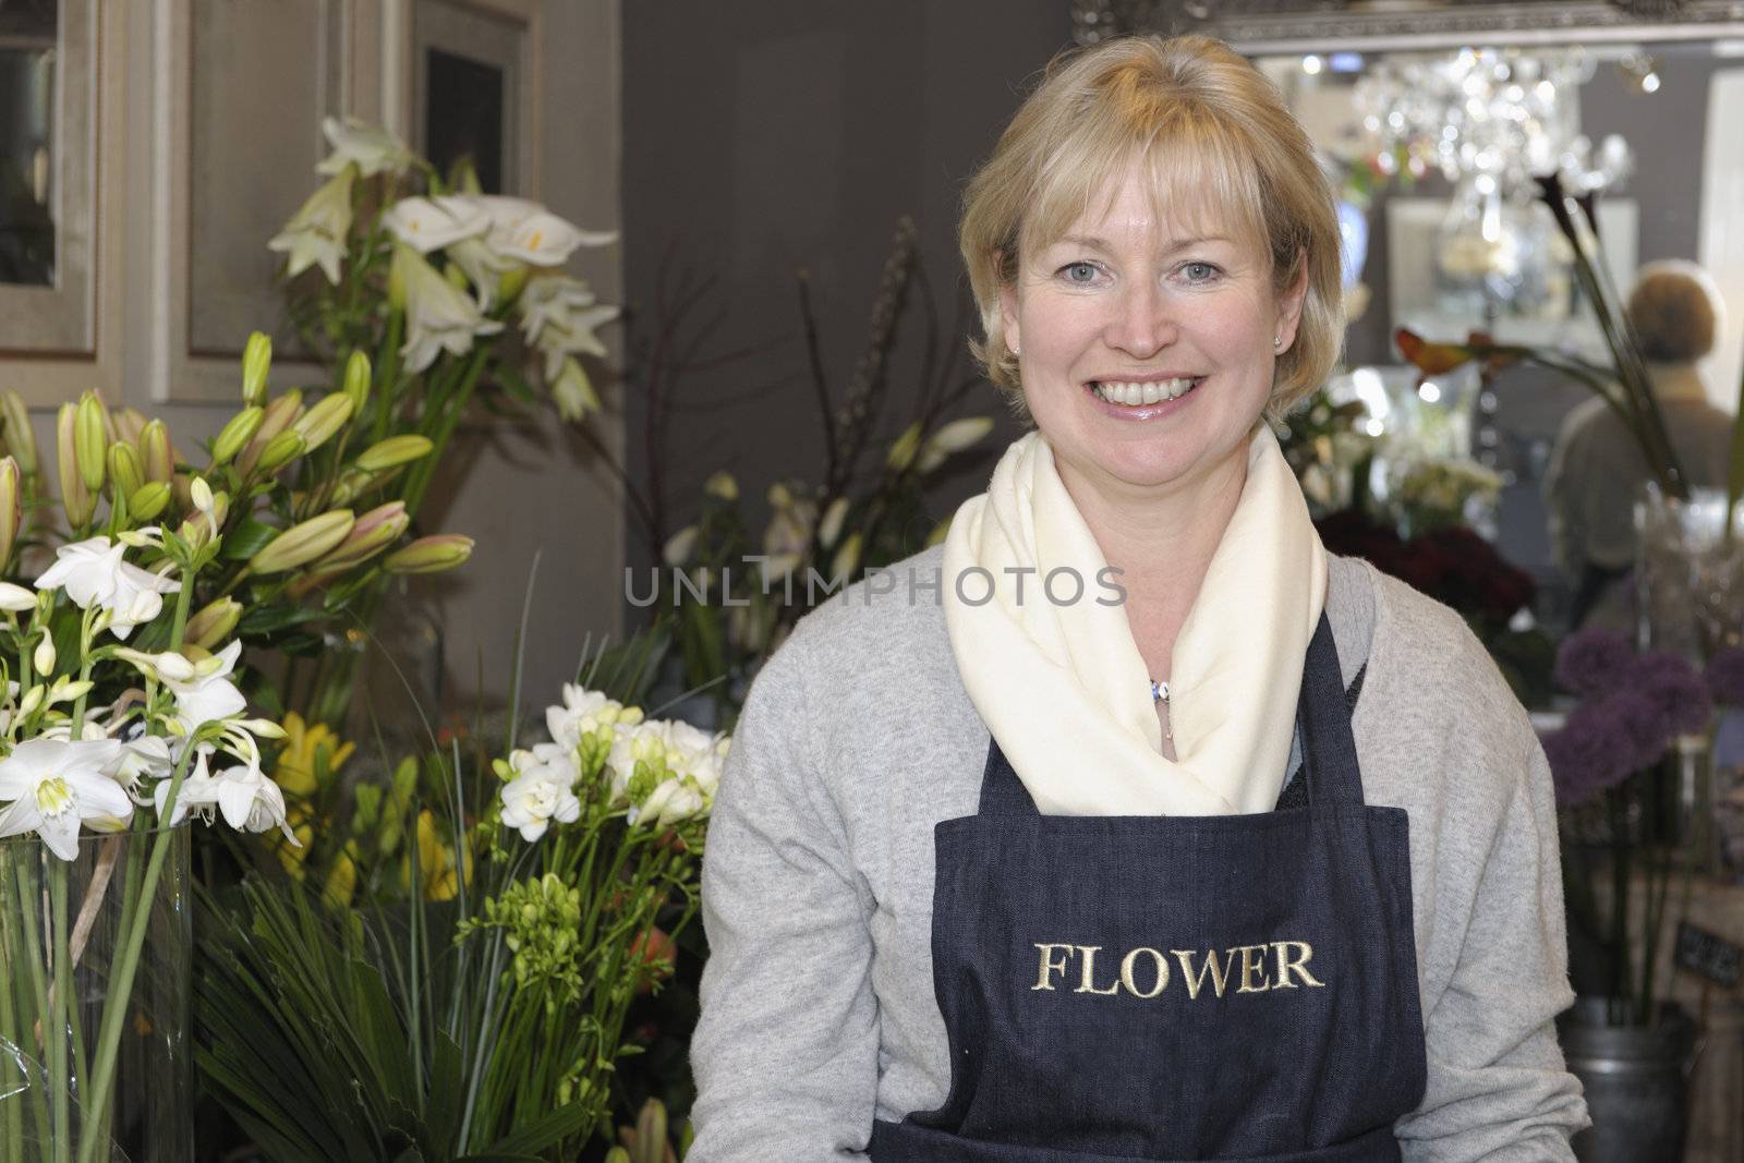
<instances>
[{"instance_id":1,"label":"smiling woman's bare neck between the cream scarf folds","mask_svg":"<svg viewBox=\"0 0 1744 1163\"><path fill-rule=\"evenodd\" d=\"M1127 622L1151 678L1167 680L1175 636L1242 500L1247 445L1162 493L1090 481L1067 466L1060 479L1107 563L1121 570Z\"/></svg>"}]
</instances>

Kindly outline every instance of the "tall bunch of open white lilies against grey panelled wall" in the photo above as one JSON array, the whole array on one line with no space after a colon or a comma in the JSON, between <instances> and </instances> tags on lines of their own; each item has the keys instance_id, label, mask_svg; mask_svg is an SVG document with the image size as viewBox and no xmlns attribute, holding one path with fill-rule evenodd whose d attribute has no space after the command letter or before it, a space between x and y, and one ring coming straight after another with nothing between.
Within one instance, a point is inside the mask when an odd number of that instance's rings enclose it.
<instances>
[{"instance_id":1,"label":"tall bunch of open white lilies against grey panelled wall","mask_svg":"<svg viewBox=\"0 0 1744 1163\"><path fill-rule=\"evenodd\" d=\"M316 169L326 181L269 246L286 255L291 316L330 364L333 396L358 363L375 370L373 392L345 417L359 439L424 452L384 479L345 471L335 445L309 464L312 497L331 502L368 479L378 502L399 506L396 520L415 521L474 396L530 405L530 378L542 378L563 418L600 408L581 357L605 356L595 328L617 307L563 263L617 235L480 194L464 166L438 174L385 129L328 119L323 131L333 153ZM358 621L371 621L384 589L373 579L351 598ZM356 664L356 650L317 657L300 710L344 725Z\"/></svg>"}]
</instances>

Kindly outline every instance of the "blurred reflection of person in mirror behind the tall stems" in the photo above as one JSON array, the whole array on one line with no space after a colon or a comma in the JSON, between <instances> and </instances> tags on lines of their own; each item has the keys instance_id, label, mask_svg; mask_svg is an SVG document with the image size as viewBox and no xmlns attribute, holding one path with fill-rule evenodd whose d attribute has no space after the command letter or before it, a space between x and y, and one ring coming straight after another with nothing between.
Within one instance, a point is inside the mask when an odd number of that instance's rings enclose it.
<instances>
[{"instance_id":1,"label":"blurred reflection of person in mirror behind the tall stems","mask_svg":"<svg viewBox=\"0 0 1744 1163\"><path fill-rule=\"evenodd\" d=\"M1625 307L1666 417L1671 446L1693 488L1725 486L1732 417L1716 408L1697 370L1721 330L1720 289L1683 260L1641 269ZM1568 413L1543 479L1550 549L1575 586L1570 629L1632 629L1624 579L1634 565L1634 504L1650 471L1622 417L1603 399Z\"/></svg>"}]
</instances>

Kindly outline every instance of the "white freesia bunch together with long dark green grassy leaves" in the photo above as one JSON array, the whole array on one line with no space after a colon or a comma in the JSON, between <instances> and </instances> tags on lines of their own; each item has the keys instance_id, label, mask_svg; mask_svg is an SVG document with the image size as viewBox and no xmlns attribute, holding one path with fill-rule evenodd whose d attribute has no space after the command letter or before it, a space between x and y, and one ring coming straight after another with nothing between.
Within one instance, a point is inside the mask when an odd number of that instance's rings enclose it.
<instances>
[{"instance_id":1,"label":"white freesia bunch together with long dark green grassy leaves","mask_svg":"<svg viewBox=\"0 0 1744 1163\"><path fill-rule=\"evenodd\" d=\"M569 1160L610 1133L631 1004L694 915L727 741L565 687L549 741L446 771L452 898L331 910L251 877L195 985L206 1081L272 1160ZM422 807L408 809L420 814ZM462 823L455 823L462 821ZM438 828L406 828L420 870Z\"/></svg>"}]
</instances>

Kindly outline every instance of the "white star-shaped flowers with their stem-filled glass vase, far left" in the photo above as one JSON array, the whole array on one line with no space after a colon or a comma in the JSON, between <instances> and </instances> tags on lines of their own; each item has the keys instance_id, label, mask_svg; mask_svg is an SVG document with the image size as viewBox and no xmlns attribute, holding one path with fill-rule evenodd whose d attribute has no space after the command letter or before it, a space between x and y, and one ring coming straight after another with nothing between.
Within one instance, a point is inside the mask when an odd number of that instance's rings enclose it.
<instances>
[{"instance_id":1,"label":"white star-shaped flowers with their stem-filled glass vase, far left","mask_svg":"<svg viewBox=\"0 0 1744 1163\"><path fill-rule=\"evenodd\" d=\"M61 546L35 589L0 582L5 1160L192 1156L178 825L284 826L258 743L279 729L246 713L242 643L211 617L204 645L188 633L201 575L223 568L220 497L199 476L188 495L176 530L133 523L117 492L105 532Z\"/></svg>"}]
</instances>

